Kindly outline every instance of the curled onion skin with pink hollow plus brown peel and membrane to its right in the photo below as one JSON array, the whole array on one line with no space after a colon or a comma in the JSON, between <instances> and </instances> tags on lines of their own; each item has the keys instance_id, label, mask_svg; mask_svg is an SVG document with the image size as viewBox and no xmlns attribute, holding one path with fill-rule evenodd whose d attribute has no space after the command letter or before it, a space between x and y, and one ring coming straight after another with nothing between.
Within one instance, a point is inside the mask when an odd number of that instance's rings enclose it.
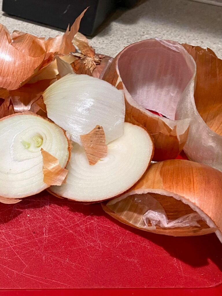
<instances>
[{"instance_id":1,"label":"curled onion skin with pink hollow plus brown peel and membrane to its right","mask_svg":"<svg viewBox=\"0 0 222 296\"><path fill-rule=\"evenodd\" d=\"M184 149L190 160L222 170L222 61L210 49L183 46L161 39L131 44L103 79L124 90L126 121L152 134L153 160Z\"/></svg>"}]
</instances>

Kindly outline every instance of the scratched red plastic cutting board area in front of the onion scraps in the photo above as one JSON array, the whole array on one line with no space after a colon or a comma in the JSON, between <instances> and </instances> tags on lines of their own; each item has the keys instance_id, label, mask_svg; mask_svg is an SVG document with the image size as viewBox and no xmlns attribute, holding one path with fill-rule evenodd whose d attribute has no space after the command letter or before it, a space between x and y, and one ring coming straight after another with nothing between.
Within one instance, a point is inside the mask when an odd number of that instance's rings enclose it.
<instances>
[{"instance_id":1,"label":"scratched red plastic cutting board area in front of the onion scraps","mask_svg":"<svg viewBox=\"0 0 222 296\"><path fill-rule=\"evenodd\" d=\"M214 234L135 230L43 192L0 204L0 289L212 287L222 282Z\"/></svg>"}]
</instances>

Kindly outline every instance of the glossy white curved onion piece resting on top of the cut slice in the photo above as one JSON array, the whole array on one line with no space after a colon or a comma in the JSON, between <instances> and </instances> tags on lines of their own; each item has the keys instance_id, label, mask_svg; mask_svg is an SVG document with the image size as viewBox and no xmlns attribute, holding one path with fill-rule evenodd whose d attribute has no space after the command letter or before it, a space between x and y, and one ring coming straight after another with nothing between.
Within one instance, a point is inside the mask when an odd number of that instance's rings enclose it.
<instances>
[{"instance_id":1,"label":"glossy white curved onion piece resting on top of the cut slice","mask_svg":"<svg viewBox=\"0 0 222 296\"><path fill-rule=\"evenodd\" d=\"M80 136L96 125L103 127L106 143L123 134L123 92L106 81L68 74L50 85L42 95L48 118L68 131L72 141L80 145Z\"/></svg>"}]
</instances>

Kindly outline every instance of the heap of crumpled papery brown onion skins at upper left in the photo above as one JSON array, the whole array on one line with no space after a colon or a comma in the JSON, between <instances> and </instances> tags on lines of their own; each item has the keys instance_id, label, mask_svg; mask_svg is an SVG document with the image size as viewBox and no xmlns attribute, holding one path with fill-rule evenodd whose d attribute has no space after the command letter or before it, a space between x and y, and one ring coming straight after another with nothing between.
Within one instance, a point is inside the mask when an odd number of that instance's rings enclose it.
<instances>
[{"instance_id":1,"label":"heap of crumpled papery brown onion skins at upper left","mask_svg":"<svg viewBox=\"0 0 222 296\"><path fill-rule=\"evenodd\" d=\"M110 57L96 54L78 32L86 9L61 36L36 37L0 24L0 118L32 111L47 116L42 92L59 79L58 61L65 61L78 74L99 77ZM2 106L3 104L3 106Z\"/></svg>"}]
</instances>

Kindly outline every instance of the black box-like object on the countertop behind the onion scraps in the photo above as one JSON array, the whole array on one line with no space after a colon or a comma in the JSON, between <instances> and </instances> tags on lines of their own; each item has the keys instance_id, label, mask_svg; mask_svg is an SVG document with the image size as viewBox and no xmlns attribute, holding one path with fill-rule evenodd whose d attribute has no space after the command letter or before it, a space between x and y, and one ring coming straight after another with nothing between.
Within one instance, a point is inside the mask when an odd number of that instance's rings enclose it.
<instances>
[{"instance_id":1,"label":"black box-like object on the countertop behind the onion scraps","mask_svg":"<svg viewBox=\"0 0 222 296\"><path fill-rule=\"evenodd\" d=\"M135 3L136 0L3 0L2 10L9 15L66 29L89 6L79 31L92 35L117 6L131 7Z\"/></svg>"}]
</instances>

